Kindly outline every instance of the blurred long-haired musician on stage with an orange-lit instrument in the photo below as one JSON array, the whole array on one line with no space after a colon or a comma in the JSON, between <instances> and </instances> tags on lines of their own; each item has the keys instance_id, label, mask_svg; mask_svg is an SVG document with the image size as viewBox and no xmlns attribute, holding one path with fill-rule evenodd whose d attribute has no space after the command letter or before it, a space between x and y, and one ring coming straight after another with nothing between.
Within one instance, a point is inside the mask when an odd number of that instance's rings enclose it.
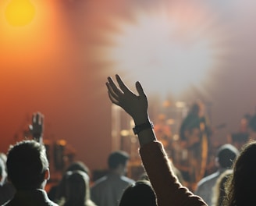
<instances>
[{"instance_id":1,"label":"blurred long-haired musician on stage with an orange-lit instrument","mask_svg":"<svg viewBox=\"0 0 256 206\"><path fill-rule=\"evenodd\" d=\"M211 133L203 102L194 102L180 126L180 142L187 150L187 172L192 187L204 176Z\"/></svg>"}]
</instances>

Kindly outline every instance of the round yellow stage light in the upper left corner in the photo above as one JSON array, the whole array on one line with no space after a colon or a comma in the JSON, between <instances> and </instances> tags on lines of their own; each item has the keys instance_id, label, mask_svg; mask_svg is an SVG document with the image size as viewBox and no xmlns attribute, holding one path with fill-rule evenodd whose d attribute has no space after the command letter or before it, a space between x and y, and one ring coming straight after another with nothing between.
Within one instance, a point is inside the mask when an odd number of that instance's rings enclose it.
<instances>
[{"instance_id":1,"label":"round yellow stage light in the upper left corner","mask_svg":"<svg viewBox=\"0 0 256 206\"><path fill-rule=\"evenodd\" d=\"M35 12L30 0L11 0L5 8L5 18L12 27L23 27L32 22Z\"/></svg>"}]
</instances>

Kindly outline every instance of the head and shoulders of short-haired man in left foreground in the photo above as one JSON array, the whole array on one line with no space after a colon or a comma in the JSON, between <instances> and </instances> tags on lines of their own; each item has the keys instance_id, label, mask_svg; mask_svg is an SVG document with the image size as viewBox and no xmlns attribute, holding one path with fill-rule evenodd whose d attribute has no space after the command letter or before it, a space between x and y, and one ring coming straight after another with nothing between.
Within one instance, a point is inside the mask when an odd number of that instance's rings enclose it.
<instances>
[{"instance_id":1,"label":"head and shoulders of short-haired man in left foreground","mask_svg":"<svg viewBox=\"0 0 256 206\"><path fill-rule=\"evenodd\" d=\"M35 140L18 142L10 147L6 165L16 194L4 205L57 205L48 199L44 190L50 172L43 144Z\"/></svg>"}]
</instances>

